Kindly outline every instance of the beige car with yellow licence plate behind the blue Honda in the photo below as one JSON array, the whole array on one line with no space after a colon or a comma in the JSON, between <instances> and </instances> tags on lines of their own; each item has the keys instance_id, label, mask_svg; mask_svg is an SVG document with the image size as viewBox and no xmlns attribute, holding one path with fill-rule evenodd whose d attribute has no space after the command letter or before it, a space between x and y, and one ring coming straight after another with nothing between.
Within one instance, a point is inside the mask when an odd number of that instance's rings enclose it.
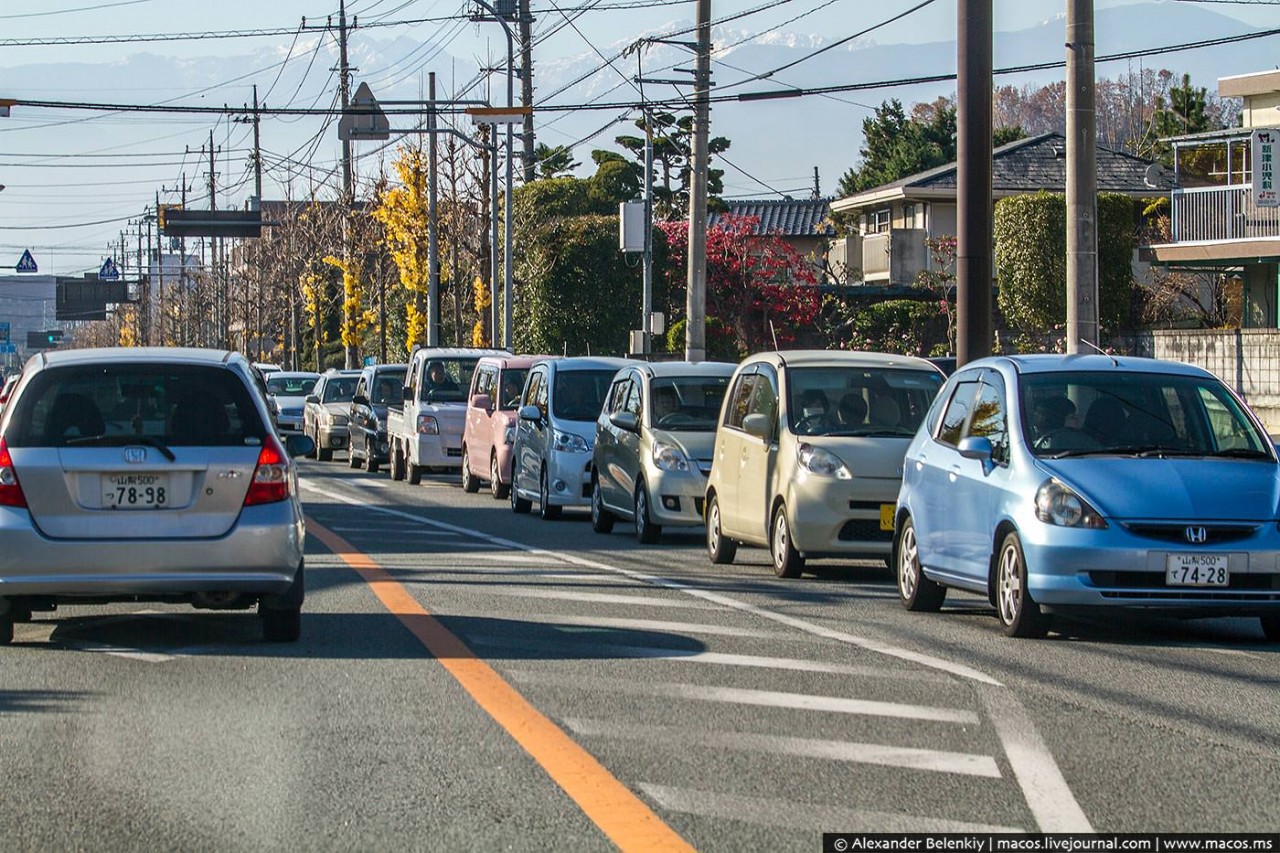
<instances>
[{"instance_id":1,"label":"beige car with yellow licence plate behind the blue Honda","mask_svg":"<svg viewBox=\"0 0 1280 853\"><path fill-rule=\"evenodd\" d=\"M707 483L707 549L765 546L780 578L805 560L888 560L902 456L945 377L924 359L762 352L733 373Z\"/></svg>"}]
</instances>

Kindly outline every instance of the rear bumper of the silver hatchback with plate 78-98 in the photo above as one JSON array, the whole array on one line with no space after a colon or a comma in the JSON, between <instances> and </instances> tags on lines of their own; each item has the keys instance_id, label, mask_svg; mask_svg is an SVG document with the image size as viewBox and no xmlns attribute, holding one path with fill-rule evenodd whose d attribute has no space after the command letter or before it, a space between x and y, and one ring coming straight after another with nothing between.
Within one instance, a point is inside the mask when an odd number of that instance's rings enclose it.
<instances>
[{"instance_id":1,"label":"rear bumper of the silver hatchback with plate 78-98","mask_svg":"<svg viewBox=\"0 0 1280 853\"><path fill-rule=\"evenodd\" d=\"M0 507L0 597L283 593L303 537L288 501L246 507L211 539L50 539L27 510Z\"/></svg>"}]
</instances>

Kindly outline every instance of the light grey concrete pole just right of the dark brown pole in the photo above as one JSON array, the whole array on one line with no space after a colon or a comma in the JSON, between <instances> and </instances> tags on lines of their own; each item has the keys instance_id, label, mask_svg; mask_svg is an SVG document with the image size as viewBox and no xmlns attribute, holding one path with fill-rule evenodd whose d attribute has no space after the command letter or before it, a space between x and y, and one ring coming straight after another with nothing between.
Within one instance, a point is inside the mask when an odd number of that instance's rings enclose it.
<instances>
[{"instance_id":1,"label":"light grey concrete pole just right of the dark brown pole","mask_svg":"<svg viewBox=\"0 0 1280 853\"><path fill-rule=\"evenodd\" d=\"M1093 0L1066 1L1066 351L1098 346Z\"/></svg>"}]
</instances>

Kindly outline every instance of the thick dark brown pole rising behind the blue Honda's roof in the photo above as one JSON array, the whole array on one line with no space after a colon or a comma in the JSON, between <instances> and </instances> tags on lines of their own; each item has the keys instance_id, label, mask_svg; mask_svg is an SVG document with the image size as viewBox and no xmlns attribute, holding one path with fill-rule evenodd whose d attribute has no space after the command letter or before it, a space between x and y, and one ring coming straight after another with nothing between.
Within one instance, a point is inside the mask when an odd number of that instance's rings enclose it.
<instances>
[{"instance_id":1,"label":"thick dark brown pole rising behind the blue Honda's roof","mask_svg":"<svg viewBox=\"0 0 1280 853\"><path fill-rule=\"evenodd\" d=\"M957 0L956 364L991 355L992 0Z\"/></svg>"}]
</instances>

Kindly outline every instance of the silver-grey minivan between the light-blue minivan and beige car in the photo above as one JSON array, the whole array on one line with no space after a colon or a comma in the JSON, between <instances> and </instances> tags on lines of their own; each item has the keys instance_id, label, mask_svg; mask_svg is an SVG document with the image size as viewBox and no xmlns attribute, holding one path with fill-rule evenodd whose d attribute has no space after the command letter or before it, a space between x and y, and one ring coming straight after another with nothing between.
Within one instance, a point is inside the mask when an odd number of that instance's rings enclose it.
<instances>
[{"instance_id":1,"label":"silver-grey minivan between the light-blue minivan and beige car","mask_svg":"<svg viewBox=\"0 0 1280 853\"><path fill-rule=\"evenodd\" d=\"M621 516L654 543L663 526L701 526L721 401L736 365L659 361L625 368L595 425L591 526Z\"/></svg>"}]
</instances>

